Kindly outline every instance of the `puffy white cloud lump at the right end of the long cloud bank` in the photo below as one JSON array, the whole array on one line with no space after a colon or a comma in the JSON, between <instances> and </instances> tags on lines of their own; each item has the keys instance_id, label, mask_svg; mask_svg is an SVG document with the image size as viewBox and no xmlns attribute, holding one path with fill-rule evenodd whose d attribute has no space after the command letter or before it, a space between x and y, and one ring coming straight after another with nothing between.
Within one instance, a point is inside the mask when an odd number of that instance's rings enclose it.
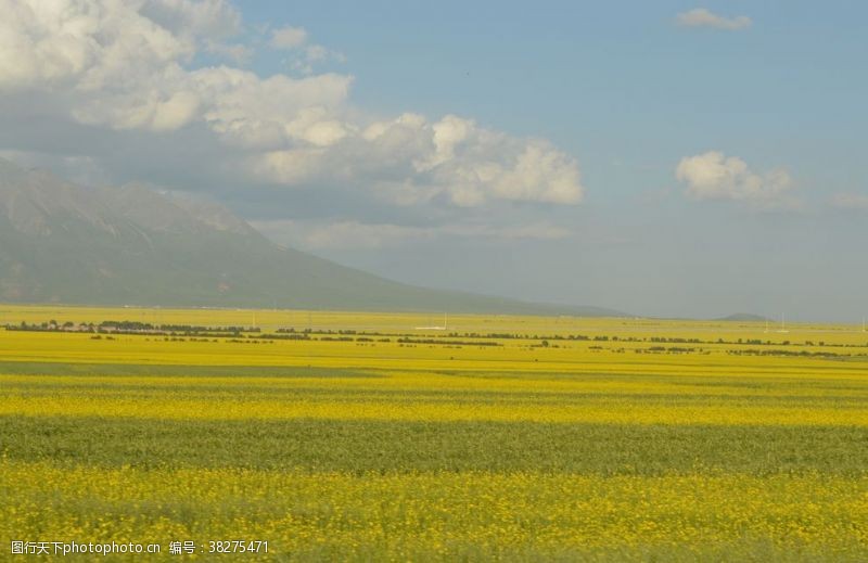
<instances>
[{"instance_id":1,"label":"puffy white cloud lump at the right end of the long cloud bank","mask_svg":"<svg viewBox=\"0 0 868 563\"><path fill-rule=\"evenodd\" d=\"M369 178L398 205L445 201L476 207L490 201L577 204L584 196L578 164L542 140L520 140L446 116L416 114L341 130L330 151L291 149L256 157L264 178L288 184Z\"/></svg>"}]
</instances>

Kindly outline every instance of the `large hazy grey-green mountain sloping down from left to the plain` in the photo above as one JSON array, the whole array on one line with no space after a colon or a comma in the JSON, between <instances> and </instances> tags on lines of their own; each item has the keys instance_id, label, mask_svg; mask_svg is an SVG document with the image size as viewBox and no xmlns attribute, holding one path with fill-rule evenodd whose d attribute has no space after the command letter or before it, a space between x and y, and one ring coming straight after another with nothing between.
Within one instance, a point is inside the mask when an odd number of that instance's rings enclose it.
<instances>
[{"instance_id":1,"label":"large hazy grey-green mountain sloping down from left to the plain","mask_svg":"<svg viewBox=\"0 0 868 563\"><path fill-rule=\"evenodd\" d=\"M621 315L390 281L275 244L213 203L81 187L2 158L0 300Z\"/></svg>"}]
</instances>

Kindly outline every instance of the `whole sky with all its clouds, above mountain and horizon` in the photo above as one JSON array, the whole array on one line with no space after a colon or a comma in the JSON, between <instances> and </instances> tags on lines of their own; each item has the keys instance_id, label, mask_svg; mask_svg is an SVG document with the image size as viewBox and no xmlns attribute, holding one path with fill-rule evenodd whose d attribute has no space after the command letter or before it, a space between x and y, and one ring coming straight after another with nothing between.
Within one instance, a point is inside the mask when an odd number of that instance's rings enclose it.
<instances>
[{"instance_id":1,"label":"whole sky with all its clouds, above mountain and horizon","mask_svg":"<svg viewBox=\"0 0 868 563\"><path fill-rule=\"evenodd\" d=\"M399 281L868 316L868 4L0 0L0 156Z\"/></svg>"}]
</instances>

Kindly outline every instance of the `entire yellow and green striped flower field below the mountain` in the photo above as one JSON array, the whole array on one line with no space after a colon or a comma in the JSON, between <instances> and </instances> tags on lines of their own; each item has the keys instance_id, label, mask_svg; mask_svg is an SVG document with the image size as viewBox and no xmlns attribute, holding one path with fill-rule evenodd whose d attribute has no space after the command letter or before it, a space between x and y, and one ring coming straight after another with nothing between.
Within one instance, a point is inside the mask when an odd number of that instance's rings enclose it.
<instances>
[{"instance_id":1,"label":"entire yellow and green striped flower field below the mountain","mask_svg":"<svg viewBox=\"0 0 868 563\"><path fill-rule=\"evenodd\" d=\"M868 560L860 327L49 306L0 323L3 559L74 540L156 542L155 561Z\"/></svg>"}]
</instances>

